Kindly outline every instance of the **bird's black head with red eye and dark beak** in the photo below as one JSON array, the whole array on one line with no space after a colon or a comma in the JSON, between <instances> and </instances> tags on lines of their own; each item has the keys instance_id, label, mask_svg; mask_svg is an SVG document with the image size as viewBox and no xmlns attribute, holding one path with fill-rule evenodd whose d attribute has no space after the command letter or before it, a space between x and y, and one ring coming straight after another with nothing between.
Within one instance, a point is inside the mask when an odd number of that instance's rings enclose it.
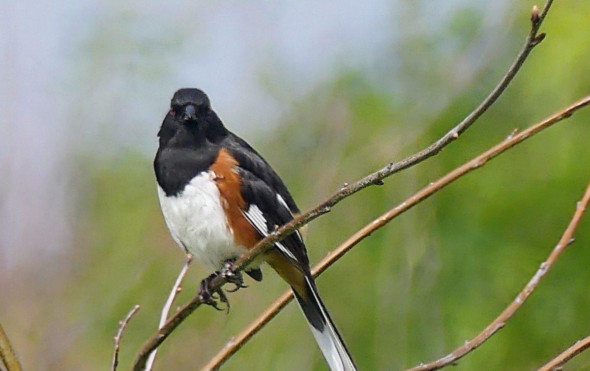
<instances>
[{"instance_id":1,"label":"bird's black head with red eye and dark beak","mask_svg":"<svg viewBox=\"0 0 590 371\"><path fill-rule=\"evenodd\" d=\"M195 146L203 140L217 142L226 134L207 94L197 88L182 88L174 93L158 136L160 145Z\"/></svg>"}]
</instances>

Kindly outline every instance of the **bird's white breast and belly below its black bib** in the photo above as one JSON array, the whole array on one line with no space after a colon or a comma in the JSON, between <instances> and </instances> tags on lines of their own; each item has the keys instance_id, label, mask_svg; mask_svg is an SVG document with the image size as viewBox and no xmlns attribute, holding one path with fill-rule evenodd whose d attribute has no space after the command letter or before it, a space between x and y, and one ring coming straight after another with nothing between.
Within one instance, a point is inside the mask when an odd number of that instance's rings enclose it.
<instances>
[{"instance_id":1,"label":"bird's white breast and belly below its black bib","mask_svg":"<svg viewBox=\"0 0 590 371\"><path fill-rule=\"evenodd\" d=\"M218 271L224 261L240 257L211 171L195 176L178 196L166 196L158 186L162 214L172 238L183 250Z\"/></svg>"}]
</instances>

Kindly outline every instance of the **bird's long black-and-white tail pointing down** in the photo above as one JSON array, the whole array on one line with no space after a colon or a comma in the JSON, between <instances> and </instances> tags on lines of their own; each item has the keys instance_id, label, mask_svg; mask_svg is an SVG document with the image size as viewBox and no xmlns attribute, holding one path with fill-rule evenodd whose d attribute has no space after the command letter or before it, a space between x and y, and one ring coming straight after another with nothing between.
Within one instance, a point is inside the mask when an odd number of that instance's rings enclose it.
<instances>
[{"instance_id":1,"label":"bird's long black-and-white tail pointing down","mask_svg":"<svg viewBox=\"0 0 590 371\"><path fill-rule=\"evenodd\" d=\"M330 315L317 293L313 278L306 277L305 284L306 298L300 296L296 290L293 290L293 293L309 322L313 337L316 338L317 345L322 350L330 370L356 371L355 363L352 361L348 350L346 350L336 326L330 319Z\"/></svg>"}]
</instances>

